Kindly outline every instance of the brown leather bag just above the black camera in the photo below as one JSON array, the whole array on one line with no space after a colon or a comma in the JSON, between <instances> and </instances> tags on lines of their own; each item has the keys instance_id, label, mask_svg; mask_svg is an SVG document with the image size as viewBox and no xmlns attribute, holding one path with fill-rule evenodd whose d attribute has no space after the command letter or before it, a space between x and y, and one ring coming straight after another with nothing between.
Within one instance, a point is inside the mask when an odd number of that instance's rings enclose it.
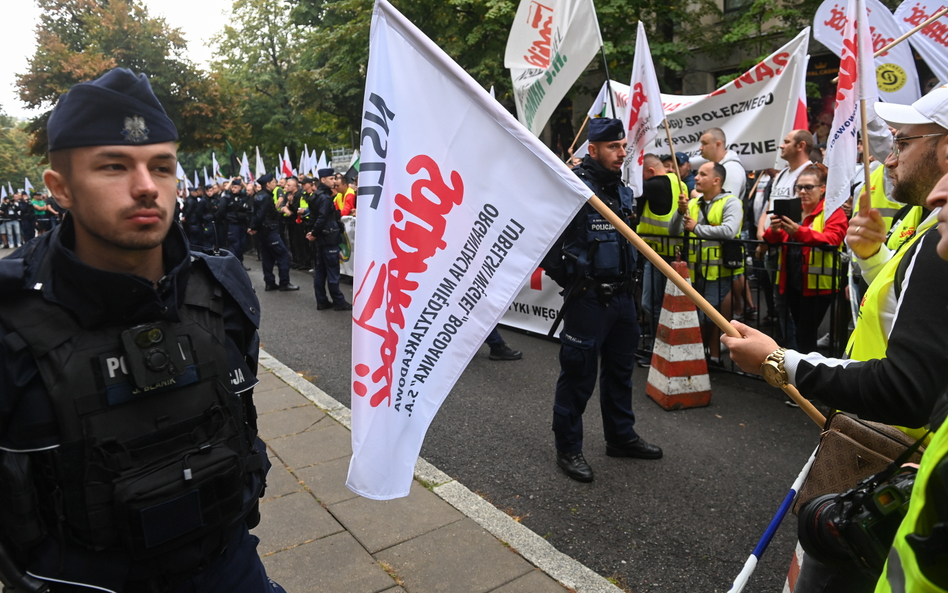
<instances>
[{"instance_id":1,"label":"brown leather bag just above the black camera","mask_svg":"<svg viewBox=\"0 0 948 593\"><path fill-rule=\"evenodd\" d=\"M811 498L845 492L879 473L914 443L915 439L892 426L834 413L826 421L820 449L800 488L793 514ZM921 461L924 451L920 447L907 463Z\"/></svg>"}]
</instances>

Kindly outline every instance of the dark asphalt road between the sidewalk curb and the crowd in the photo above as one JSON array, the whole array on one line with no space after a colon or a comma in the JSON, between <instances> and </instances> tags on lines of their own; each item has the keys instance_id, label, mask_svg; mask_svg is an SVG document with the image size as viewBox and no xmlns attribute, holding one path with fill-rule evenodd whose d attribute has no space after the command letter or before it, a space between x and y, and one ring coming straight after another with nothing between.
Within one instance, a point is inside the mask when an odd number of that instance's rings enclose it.
<instances>
[{"instance_id":1,"label":"dark asphalt road between the sidewalk curb and the crowd","mask_svg":"<svg viewBox=\"0 0 948 593\"><path fill-rule=\"evenodd\" d=\"M264 292L259 263L247 261L263 348L350 405L350 316L316 311L305 272L292 274L299 292ZM351 296L351 286L343 291ZM422 457L628 591L727 591L816 446L812 421L765 383L725 373L711 375L710 406L666 412L645 395L648 370L636 369L636 429L664 458L606 457L594 395L584 453L596 479L580 484L554 460L558 344L501 333L523 360L491 362L482 346L435 417ZM795 542L790 515L745 590L782 590Z\"/></svg>"}]
</instances>

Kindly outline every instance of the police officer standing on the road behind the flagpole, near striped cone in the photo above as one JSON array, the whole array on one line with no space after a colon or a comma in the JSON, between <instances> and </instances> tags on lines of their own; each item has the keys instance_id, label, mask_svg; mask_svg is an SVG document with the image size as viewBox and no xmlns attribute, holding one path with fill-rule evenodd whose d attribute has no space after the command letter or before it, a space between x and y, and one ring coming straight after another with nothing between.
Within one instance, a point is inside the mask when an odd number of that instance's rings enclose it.
<instances>
[{"instance_id":1,"label":"police officer standing on the road behind the flagpole, near striped cone","mask_svg":"<svg viewBox=\"0 0 948 593\"><path fill-rule=\"evenodd\" d=\"M589 122L589 154L573 172L623 221L632 192L621 183L626 139L622 122ZM601 362L599 399L606 454L658 459L662 450L640 437L632 412L632 369L639 341L632 273L635 249L589 204L554 243L543 268L565 288L560 377L553 404L556 463L570 478L591 482L583 457L583 411Z\"/></svg>"}]
</instances>

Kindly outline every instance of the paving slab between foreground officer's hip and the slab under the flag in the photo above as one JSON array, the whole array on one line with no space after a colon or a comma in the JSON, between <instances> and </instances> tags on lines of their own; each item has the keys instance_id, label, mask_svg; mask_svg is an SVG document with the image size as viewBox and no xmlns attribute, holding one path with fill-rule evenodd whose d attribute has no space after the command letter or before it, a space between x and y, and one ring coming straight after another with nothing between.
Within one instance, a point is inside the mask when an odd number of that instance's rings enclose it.
<instances>
[{"instance_id":1,"label":"paving slab between foreground officer's hip and the slab under the flag","mask_svg":"<svg viewBox=\"0 0 948 593\"><path fill-rule=\"evenodd\" d=\"M261 554L279 552L343 531L342 525L309 492L287 494L260 503Z\"/></svg>"}]
</instances>

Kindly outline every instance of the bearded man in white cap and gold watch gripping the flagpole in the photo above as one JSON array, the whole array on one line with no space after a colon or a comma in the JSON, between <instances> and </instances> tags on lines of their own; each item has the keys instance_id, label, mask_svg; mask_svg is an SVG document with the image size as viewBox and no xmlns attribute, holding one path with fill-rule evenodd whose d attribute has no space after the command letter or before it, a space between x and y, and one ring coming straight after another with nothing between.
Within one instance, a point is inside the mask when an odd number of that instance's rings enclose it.
<instances>
[{"instance_id":1,"label":"bearded man in white cap and gold watch gripping the flagpole","mask_svg":"<svg viewBox=\"0 0 948 593\"><path fill-rule=\"evenodd\" d=\"M935 89L911 106L876 103L876 112L898 128L886 167L893 198L923 207L939 178L948 174L948 87ZM809 399L860 418L909 427L916 438L928 423L938 395L948 385L948 266L938 257L938 223L929 214L894 253L885 247L885 222L860 198L861 213L850 221L846 241L870 280L859 322L846 348L848 359L778 348L770 337L744 324L744 336L721 340L731 359L761 373L776 387L796 386ZM875 581L854 566L830 567L804 556L798 593L872 591ZM801 586L802 584L802 586Z\"/></svg>"}]
</instances>

